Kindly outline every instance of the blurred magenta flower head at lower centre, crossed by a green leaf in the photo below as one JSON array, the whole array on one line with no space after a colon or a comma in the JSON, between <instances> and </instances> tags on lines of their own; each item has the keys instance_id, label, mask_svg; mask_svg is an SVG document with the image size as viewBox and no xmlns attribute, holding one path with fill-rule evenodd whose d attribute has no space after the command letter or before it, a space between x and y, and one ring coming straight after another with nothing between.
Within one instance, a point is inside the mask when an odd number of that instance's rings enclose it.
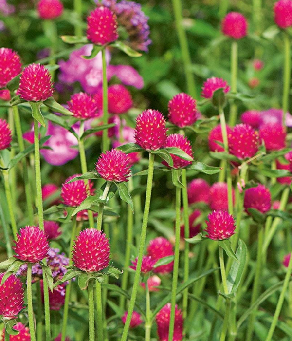
<instances>
[{"instance_id":1,"label":"blurred magenta flower head at lower centre, crossed by a green leaf","mask_svg":"<svg viewBox=\"0 0 292 341\"><path fill-rule=\"evenodd\" d=\"M155 261L158 261L161 258L174 255L173 246L163 237L157 237L150 241L149 246L147 248L147 254ZM154 269L156 273L168 273L173 270L173 262L158 266Z\"/></svg>"}]
</instances>

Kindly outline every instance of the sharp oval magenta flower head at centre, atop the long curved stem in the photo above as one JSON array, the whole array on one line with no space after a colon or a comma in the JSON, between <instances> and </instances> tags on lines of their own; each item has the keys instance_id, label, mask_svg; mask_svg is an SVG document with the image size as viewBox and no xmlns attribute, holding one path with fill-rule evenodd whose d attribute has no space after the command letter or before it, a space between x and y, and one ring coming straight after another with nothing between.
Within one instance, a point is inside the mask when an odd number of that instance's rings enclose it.
<instances>
[{"instance_id":1,"label":"sharp oval magenta flower head at centre, atop the long curved stem","mask_svg":"<svg viewBox=\"0 0 292 341\"><path fill-rule=\"evenodd\" d=\"M146 151L156 151L166 141L166 121L157 110L147 109L136 119L135 141Z\"/></svg>"}]
</instances>

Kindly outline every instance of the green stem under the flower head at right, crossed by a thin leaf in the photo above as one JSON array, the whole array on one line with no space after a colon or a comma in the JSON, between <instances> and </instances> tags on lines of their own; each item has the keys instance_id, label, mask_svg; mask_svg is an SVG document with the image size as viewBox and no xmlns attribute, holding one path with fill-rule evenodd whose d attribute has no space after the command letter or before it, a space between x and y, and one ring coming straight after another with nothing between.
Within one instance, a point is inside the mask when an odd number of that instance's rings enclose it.
<instances>
[{"instance_id":1,"label":"green stem under the flower head at right, crossed by a thin leaf","mask_svg":"<svg viewBox=\"0 0 292 341\"><path fill-rule=\"evenodd\" d=\"M258 298L259 290L260 290L260 276L262 272L262 247L263 247L263 227L260 227L260 230L258 232L258 241L257 241L257 255L256 255L256 273L254 278L254 284L253 284L253 292L252 292L252 299L251 304L254 304L256 302L256 299ZM254 311L249 318L248 328L247 328L247 335L246 335L246 341L252 341L253 340L253 334L254 334L254 324L255 324L255 315L256 311Z\"/></svg>"}]
</instances>

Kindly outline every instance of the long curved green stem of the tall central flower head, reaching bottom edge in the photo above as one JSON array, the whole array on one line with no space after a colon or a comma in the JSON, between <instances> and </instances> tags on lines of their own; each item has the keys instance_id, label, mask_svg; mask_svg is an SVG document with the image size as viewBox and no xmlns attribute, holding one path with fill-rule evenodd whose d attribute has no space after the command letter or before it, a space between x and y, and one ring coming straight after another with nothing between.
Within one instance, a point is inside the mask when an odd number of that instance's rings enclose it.
<instances>
[{"instance_id":1,"label":"long curved green stem of the tall central flower head, reaching bottom edge","mask_svg":"<svg viewBox=\"0 0 292 341\"><path fill-rule=\"evenodd\" d=\"M142 222L142 228L141 228L140 244L139 244L139 249L138 249L138 261L137 261L137 267L136 267L136 272L135 272L135 277L134 277L134 284L132 288L131 299L130 299L129 308L128 308L128 316L127 316L126 323L123 329L121 341L126 341L128 337L128 331L130 327L132 314L134 311L134 305L136 302L137 291L138 291L138 286L139 286L142 258L143 258L143 253L144 253L146 231L147 231L147 224L148 224L148 217L149 217L149 210L150 210L153 172L154 172L154 157L155 157L154 154L151 154L151 153L149 154L146 198L145 198L145 207L144 207L143 222Z\"/></svg>"}]
</instances>

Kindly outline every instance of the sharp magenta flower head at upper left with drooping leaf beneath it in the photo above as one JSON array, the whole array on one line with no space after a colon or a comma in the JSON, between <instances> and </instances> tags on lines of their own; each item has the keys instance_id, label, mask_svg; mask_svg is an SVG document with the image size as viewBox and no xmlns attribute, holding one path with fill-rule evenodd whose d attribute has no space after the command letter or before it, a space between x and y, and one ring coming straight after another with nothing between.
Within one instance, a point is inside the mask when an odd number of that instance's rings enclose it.
<instances>
[{"instance_id":1,"label":"sharp magenta flower head at upper left with drooping leaf beneath it","mask_svg":"<svg viewBox=\"0 0 292 341\"><path fill-rule=\"evenodd\" d=\"M40 64L30 64L24 68L19 79L18 95L30 102L52 97L53 82L49 70Z\"/></svg>"}]
</instances>

